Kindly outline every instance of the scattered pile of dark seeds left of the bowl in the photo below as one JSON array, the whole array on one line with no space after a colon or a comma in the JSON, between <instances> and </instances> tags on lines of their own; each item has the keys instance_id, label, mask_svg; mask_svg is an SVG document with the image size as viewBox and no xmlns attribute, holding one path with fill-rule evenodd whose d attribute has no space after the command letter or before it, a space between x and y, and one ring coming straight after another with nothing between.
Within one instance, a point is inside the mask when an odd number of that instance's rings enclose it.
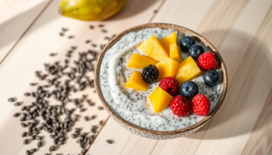
<instances>
[{"instance_id":1,"label":"scattered pile of dark seeds left of the bowl","mask_svg":"<svg viewBox=\"0 0 272 155\"><path fill-rule=\"evenodd\" d=\"M104 25L100 24L98 27L104 27ZM95 26L91 25L90 28L94 29ZM61 30L59 33L60 37L63 37L69 31L68 28L62 28ZM108 32L105 29L100 31ZM75 36L68 36L68 38L73 37ZM104 39L108 41L112 37L107 36ZM86 41L86 43L89 42L91 41ZM91 46L96 47L97 45L92 43ZM104 46L105 44L100 44L100 49ZM63 62L44 63L44 71L35 71L35 76L41 81L46 81L47 84L30 83L31 87L36 87L36 91L26 92L24 96L32 97L33 102L30 105L23 106L21 112L13 115L14 117L21 116L21 126L27 128L27 131L21 135L22 137L27 137L23 141L24 145L29 144L30 141L38 140L37 148L41 147L44 140L39 134L41 130L45 130L50 133L50 138L54 139L54 145L51 145L48 151L57 150L58 147L56 145L64 144L69 137L68 132L71 131L71 128L80 117L80 115L74 114L74 111L76 109L79 109L80 112L85 111L84 103L87 103L90 107L95 105L91 98L88 98L87 94L82 94L81 98L72 98L71 96L76 92L85 90L87 87L94 88L94 79L87 74L93 74L95 62L100 51L87 50L79 52L79 59L72 61L72 54L75 53L76 49L76 46L70 47ZM49 56L55 55L57 53L51 53ZM49 100L53 100L53 102ZM8 101L15 102L17 98L9 98ZM23 102L14 103L15 106L22 104ZM74 104L75 108L66 108L67 104ZM97 109L103 110L104 108L99 106ZM60 119L61 116L65 116L64 120ZM95 118L95 115L85 116L84 120L88 121ZM77 138L76 142L82 148L81 154L86 153L88 146L95 139L98 127L103 126L103 124L104 121L100 120L97 126L93 125L90 129L92 135L82 133L81 128L75 128L75 131L70 134L72 138ZM113 143L112 140L107 140L106 142L109 144ZM36 150L36 148L26 150L26 155L33 154ZM48 153L45 155L48 155Z\"/></svg>"}]
</instances>

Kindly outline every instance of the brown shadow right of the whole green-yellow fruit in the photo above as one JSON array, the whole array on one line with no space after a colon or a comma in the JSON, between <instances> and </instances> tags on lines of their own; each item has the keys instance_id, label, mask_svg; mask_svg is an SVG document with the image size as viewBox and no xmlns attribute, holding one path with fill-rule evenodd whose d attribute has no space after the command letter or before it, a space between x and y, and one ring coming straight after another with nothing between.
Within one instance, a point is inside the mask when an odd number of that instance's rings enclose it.
<instances>
[{"instance_id":1,"label":"brown shadow right of the whole green-yellow fruit","mask_svg":"<svg viewBox=\"0 0 272 155\"><path fill-rule=\"evenodd\" d=\"M135 16L141 13L142 11L148 9L150 6L152 6L152 4L154 4L157 1L159 0L137 0L137 1L128 0L120 12L118 12L115 16L107 20L115 21L130 18L131 16Z\"/></svg>"}]
</instances>

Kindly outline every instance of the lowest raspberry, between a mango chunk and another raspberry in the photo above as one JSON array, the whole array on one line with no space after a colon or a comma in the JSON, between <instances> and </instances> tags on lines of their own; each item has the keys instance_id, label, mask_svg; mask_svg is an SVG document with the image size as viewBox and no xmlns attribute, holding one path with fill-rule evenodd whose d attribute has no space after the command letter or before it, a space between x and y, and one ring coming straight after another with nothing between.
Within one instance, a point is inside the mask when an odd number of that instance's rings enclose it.
<instances>
[{"instance_id":1,"label":"lowest raspberry, between a mango chunk and another raspberry","mask_svg":"<svg viewBox=\"0 0 272 155\"><path fill-rule=\"evenodd\" d=\"M190 102L185 96L178 95L170 103L170 110L178 117L187 116L190 113Z\"/></svg>"}]
</instances>

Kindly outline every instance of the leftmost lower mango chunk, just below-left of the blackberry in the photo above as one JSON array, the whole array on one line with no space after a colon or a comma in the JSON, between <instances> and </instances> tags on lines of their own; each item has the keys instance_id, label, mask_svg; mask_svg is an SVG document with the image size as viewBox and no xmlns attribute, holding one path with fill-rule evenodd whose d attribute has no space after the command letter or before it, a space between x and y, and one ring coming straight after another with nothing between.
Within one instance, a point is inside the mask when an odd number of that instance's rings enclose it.
<instances>
[{"instance_id":1,"label":"leftmost lower mango chunk, just below-left of the blackberry","mask_svg":"<svg viewBox=\"0 0 272 155\"><path fill-rule=\"evenodd\" d=\"M143 80L142 75L138 71L132 72L128 81L125 83L125 87L129 87L136 90L147 91L147 83Z\"/></svg>"}]
</instances>

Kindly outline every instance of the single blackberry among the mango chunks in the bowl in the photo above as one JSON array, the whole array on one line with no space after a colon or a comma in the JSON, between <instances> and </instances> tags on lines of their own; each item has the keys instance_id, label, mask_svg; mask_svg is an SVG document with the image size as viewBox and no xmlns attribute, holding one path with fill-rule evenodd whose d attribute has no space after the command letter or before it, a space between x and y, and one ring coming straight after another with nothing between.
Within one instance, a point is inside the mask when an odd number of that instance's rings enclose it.
<instances>
[{"instance_id":1,"label":"single blackberry among the mango chunks in the bowl","mask_svg":"<svg viewBox=\"0 0 272 155\"><path fill-rule=\"evenodd\" d=\"M154 65L148 65L143 69L142 77L147 83L154 83L159 77L159 69Z\"/></svg>"}]
</instances>

